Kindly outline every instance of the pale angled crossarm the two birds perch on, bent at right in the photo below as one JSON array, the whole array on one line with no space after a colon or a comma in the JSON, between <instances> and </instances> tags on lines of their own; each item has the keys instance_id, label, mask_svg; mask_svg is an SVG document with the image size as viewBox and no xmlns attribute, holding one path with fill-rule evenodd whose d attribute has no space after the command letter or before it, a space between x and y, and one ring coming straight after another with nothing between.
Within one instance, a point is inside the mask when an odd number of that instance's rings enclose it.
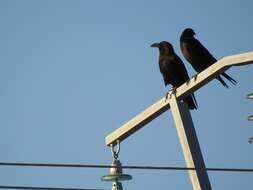
<instances>
[{"instance_id":1,"label":"pale angled crossarm the two birds perch on, bent at right","mask_svg":"<svg viewBox=\"0 0 253 190\"><path fill-rule=\"evenodd\" d=\"M217 61L212 66L208 67L197 75L197 78L192 78L188 84L184 83L177 88L176 97L180 101L187 95L193 93L218 74L224 72L231 66L246 65L253 62L253 52L232 55ZM170 107L169 99L162 98L146 110L132 118L120 128L106 137L106 145L116 144L117 140L123 141L128 136L139 130L141 127L161 115Z\"/></svg>"}]
</instances>

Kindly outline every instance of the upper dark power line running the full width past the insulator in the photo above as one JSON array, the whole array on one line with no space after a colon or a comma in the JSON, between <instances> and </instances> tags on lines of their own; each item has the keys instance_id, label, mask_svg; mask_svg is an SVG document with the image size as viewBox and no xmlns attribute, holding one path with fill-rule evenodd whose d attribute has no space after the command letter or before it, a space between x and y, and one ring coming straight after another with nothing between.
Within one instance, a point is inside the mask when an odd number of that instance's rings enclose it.
<instances>
[{"instance_id":1,"label":"upper dark power line running the full width past the insulator","mask_svg":"<svg viewBox=\"0 0 253 190\"><path fill-rule=\"evenodd\" d=\"M111 168L111 165L103 164L45 164L45 163L15 163L0 162L0 166L20 166L20 167L61 167L61 168ZM125 169L140 170L195 170L196 168L174 167L174 166L129 166L123 165ZM253 172L252 168L205 168L207 171L223 172Z\"/></svg>"}]
</instances>

